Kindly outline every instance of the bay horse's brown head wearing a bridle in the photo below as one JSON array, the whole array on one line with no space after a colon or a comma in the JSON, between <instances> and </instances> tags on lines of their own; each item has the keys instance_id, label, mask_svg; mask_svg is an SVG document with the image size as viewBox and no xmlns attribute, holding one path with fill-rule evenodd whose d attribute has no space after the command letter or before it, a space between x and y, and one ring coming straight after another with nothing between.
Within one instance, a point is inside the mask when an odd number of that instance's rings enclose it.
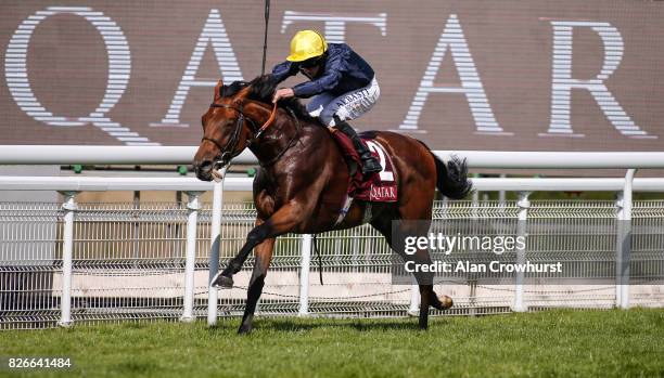
<instances>
[{"instance_id":1,"label":"bay horse's brown head wearing a bridle","mask_svg":"<svg viewBox=\"0 0 664 378\"><path fill-rule=\"evenodd\" d=\"M200 180L210 181L214 170L227 166L246 148L257 127L245 109L248 90L244 81L224 86L219 80L215 87L214 101L201 118L203 139L193 161Z\"/></svg>"}]
</instances>

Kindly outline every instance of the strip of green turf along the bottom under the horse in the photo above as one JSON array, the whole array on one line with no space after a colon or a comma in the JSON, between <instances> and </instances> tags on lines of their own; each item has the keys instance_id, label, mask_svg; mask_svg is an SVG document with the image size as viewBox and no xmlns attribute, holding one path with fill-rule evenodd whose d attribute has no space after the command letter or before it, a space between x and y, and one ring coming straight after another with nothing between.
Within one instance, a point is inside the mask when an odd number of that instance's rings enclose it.
<instances>
[{"instance_id":1,"label":"strip of green turf along the bottom under the horse","mask_svg":"<svg viewBox=\"0 0 664 378\"><path fill-rule=\"evenodd\" d=\"M664 310L416 320L258 318L0 331L0 355L69 355L67 373L151 377L656 377ZM1 375L8 372L0 370Z\"/></svg>"}]
</instances>

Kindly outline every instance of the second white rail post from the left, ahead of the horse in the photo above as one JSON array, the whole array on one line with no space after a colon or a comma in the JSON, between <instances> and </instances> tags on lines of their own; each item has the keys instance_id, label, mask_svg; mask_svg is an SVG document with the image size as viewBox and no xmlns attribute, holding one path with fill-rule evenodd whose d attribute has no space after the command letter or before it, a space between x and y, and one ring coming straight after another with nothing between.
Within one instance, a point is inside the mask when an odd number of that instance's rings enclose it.
<instances>
[{"instance_id":1,"label":"second white rail post from the left, ahead of the horse","mask_svg":"<svg viewBox=\"0 0 664 378\"><path fill-rule=\"evenodd\" d=\"M187 192L189 201L187 209L187 261L184 264L184 309L181 322L193 322L194 268L196 262L196 223L201 209L200 196L203 192Z\"/></svg>"}]
</instances>

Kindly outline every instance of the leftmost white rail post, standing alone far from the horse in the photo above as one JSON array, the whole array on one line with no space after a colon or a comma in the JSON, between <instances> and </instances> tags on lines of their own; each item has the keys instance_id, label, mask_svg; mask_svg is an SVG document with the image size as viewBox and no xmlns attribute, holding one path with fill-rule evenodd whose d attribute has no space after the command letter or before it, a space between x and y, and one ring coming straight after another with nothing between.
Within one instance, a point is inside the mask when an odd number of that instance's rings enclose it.
<instances>
[{"instance_id":1,"label":"leftmost white rail post, standing alone far from the horse","mask_svg":"<svg viewBox=\"0 0 664 378\"><path fill-rule=\"evenodd\" d=\"M60 297L61 317L58 324L62 327L72 325L72 260L74 251L74 212L77 192L61 192L64 196L62 208L65 210L64 231L62 235L62 296Z\"/></svg>"}]
</instances>

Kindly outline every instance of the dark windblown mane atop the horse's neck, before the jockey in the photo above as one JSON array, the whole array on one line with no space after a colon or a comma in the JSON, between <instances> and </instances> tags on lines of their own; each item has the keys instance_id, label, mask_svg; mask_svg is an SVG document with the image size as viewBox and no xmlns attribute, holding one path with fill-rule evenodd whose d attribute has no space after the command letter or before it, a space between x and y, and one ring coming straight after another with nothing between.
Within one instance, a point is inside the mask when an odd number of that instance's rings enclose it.
<instances>
[{"instance_id":1,"label":"dark windblown mane atop the horse's neck, before the jockey","mask_svg":"<svg viewBox=\"0 0 664 378\"><path fill-rule=\"evenodd\" d=\"M232 96L238 94L242 89L250 87L250 92L247 97L250 100L259 101L261 103L271 104L272 95L274 94L274 90L279 82L274 79L272 75L263 75L256 77L252 81L233 81L230 86L222 86L220 91L220 95ZM279 106L291 109L295 114L295 116L303 120L314 120L315 119L309 116L309 113L305 108L305 106L297 100L296 97L281 99L279 101Z\"/></svg>"}]
</instances>

